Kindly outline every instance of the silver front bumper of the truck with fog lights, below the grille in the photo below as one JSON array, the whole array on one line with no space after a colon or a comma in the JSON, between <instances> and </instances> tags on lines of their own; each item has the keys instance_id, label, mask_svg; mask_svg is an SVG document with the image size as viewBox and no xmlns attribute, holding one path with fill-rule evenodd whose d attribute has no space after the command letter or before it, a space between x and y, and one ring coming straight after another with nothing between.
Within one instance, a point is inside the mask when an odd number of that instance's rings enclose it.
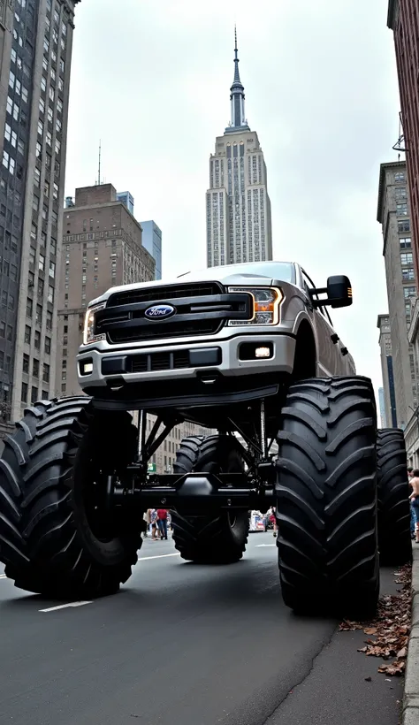
<instances>
[{"instance_id":1,"label":"silver front bumper of the truck with fog lights, below the grille","mask_svg":"<svg viewBox=\"0 0 419 725\"><path fill-rule=\"evenodd\" d=\"M270 357L243 359L243 356L252 354L253 346L268 347ZM217 372L223 378L258 373L291 373L295 338L284 332L262 332L238 334L227 340L212 338L167 346L149 345L118 350L110 349L107 345L104 349L100 347L100 344L96 344L82 348L77 357L79 385L83 390L88 389L89 394L92 394L92 388L109 386L117 379L125 384L158 381L176 383L212 372Z\"/></svg>"}]
</instances>

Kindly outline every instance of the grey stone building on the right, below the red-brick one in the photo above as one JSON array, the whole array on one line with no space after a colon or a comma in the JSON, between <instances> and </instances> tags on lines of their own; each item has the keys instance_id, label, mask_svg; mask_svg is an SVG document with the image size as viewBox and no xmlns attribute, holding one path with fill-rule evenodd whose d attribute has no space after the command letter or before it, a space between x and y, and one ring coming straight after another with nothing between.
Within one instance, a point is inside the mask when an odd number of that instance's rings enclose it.
<instances>
[{"instance_id":1,"label":"grey stone building on the right, below the red-brick one","mask_svg":"<svg viewBox=\"0 0 419 725\"><path fill-rule=\"evenodd\" d=\"M404 161L381 164L377 221L383 230L397 422L400 428L404 428L412 415L412 408L417 405L419 377L414 348L408 341L408 326L412 317L412 301L415 301L417 294L417 279Z\"/></svg>"}]
</instances>

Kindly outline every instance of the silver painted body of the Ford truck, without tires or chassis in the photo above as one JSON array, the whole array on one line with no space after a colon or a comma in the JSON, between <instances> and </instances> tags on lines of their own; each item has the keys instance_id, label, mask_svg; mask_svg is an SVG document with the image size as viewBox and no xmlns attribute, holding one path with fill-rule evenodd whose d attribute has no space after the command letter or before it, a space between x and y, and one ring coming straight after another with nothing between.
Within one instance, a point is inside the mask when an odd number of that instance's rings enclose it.
<instances>
[{"instance_id":1,"label":"silver painted body of the Ford truck, without tires or chassis","mask_svg":"<svg viewBox=\"0 0 419 725\"><path fill-rule=\"evenodd\" d=\"M259 294L254 291L261 289L278 290L282 298L277 298L275 324L252 324ZM248 305L247 313L243 305ZM233 309L240 309L241 318L232 319ZM77 359L80 386L89 394L115 378L126 384L161 380L175 385L206 369L224 378L292 374L304 321L316 342L316 376L355 373L352 356L339 339L332 341L327 311L313 307L308 278L297 263L227 265L164 282L112 287L89 304L88 315L90 310L97 310L95 320L91 313L87 316ZM223 317L224 311L230 318ZM269 349L270 356L243 359L240 346L249 341Z\"/></svg>"}]
</instances>

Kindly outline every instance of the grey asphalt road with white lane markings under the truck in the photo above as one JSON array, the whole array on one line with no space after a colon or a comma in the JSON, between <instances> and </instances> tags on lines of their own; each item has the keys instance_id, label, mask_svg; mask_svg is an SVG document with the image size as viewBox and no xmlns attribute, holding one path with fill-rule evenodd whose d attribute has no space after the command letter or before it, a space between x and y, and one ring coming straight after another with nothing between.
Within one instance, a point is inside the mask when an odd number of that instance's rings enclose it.
<instances>
[{"instance_id":1,"label":"grey asphalt road with white lane markings under the truck","mask_svg":"<svg viewBox=\"0 0 419 725\"><path fill-rule=\"evenodd\" d=\"M60 609L0 569L0 724L397 725L400 680L283 605L273 542L216 568L146 541L117 596Z\"/></svg>"}]
</instances>

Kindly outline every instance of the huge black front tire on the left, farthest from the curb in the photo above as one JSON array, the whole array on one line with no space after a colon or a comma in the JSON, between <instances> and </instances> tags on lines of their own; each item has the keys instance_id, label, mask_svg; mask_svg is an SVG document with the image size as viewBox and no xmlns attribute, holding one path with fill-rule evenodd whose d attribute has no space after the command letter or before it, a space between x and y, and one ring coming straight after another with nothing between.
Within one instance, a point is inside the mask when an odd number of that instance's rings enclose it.
<instances>
[{"instance_id":1,"label":"huge black front tire on the left, farthest from the curb","mask_svg":"<svg viewBox=\"0 0 419 725\"><path fill-rule=\"evenodd\" d=\"M87 599L115 593L131 576L141 522L115 514L104 530L101 509L91 526L87 497L99 490L90 466L122 471L135 438L129 414L94 414L87 396L26 408L0 459L0 561L16 586Z\"/></svg>"}]
</instances>

